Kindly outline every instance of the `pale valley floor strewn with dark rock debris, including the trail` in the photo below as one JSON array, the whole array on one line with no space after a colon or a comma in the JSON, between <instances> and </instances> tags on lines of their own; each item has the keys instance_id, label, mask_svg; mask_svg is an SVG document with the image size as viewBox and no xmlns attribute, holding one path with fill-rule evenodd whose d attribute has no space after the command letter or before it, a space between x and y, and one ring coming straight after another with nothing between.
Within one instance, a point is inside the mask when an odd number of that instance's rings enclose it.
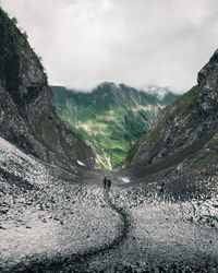
<instances>
[{"instance_id":1,"label":"pale valley floor strewn with dark rock debris, including the trail","mask_svg":"<svg viewBox=\"0 0 218 273\"><path fill-rule=\"evenodd\" d=\"M135 182L111 173L109 192L102 171L80 168L0 139L0 272L218 272L217 166Z\"/></svg>"}]
</instances>

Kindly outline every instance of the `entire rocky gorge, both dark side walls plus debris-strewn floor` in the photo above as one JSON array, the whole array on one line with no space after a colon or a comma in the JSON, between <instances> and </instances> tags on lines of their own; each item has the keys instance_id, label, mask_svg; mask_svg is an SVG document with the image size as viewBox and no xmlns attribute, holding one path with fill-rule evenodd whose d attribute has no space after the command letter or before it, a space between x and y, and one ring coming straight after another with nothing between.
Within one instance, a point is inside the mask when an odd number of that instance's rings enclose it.
<instances>
[{"instance_id":1,"label":"entire rocky gorge, both dark side walls plus debris-strewn floor","mask_svg":"<svg viewBox=\"0 0 218 273\"><path fill-rule=\"evenodd\" d=\"M217 68L216 51L125 168L96 170L0 10L0 272L217 272Z\"/></svg>"}]
</instances>

